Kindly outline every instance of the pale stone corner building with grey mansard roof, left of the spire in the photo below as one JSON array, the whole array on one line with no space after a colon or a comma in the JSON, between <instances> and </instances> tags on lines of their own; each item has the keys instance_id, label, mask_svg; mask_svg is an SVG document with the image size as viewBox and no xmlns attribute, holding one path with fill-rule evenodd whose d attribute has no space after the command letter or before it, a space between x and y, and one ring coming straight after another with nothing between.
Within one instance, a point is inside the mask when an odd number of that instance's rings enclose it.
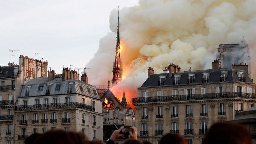
<instances>
[{"instance_id":1,"label":"pale stone corner building with grey mansard roof, left of the spire","mask_svg":"<svg viewBox=\"0 0 256 144\"><path fill-rule=\"evenodd\" d=\"M62 75L48 71L48 77L22 85L15 106L15 143L53 129L102 139L102 101L95 87L82 80L76 71L64 68Z\"/></svg>"}]
</instances>

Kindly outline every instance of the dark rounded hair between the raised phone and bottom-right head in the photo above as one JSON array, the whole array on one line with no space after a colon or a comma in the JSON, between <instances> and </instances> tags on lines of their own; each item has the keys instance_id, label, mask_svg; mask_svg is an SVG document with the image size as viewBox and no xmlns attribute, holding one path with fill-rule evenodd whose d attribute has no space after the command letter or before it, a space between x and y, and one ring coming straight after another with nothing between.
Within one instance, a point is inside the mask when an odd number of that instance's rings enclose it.
<instances>
[{"instance_id":1,"label":"dark rounded hair between the raised phone and bottom-right head","mask_svg":"<svg viewBox=\"0 0 256 144\"><path fill-rule=\"evenodd\" d=\"M159 141L159 144L187 144L187 139L177 133L167 133L163 135Z\"/></svg>"}]
</instances>

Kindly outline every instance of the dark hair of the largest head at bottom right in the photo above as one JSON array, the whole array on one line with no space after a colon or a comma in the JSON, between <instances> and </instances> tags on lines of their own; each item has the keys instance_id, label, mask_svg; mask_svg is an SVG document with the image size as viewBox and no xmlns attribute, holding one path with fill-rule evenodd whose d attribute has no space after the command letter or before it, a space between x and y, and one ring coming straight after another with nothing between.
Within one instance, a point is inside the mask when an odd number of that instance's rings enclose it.
<instances>
[{"instance_id":1,"label":"dark hair of the largest head at bottom right","mask_svg":"<svg viewBox=\"0 0 256 144\"><path fill-rule=\"evenodd\" d=\"M238 123L215 123L207 131L203 144L251 144L247 128Z\"/></svg>"}]
</instances>

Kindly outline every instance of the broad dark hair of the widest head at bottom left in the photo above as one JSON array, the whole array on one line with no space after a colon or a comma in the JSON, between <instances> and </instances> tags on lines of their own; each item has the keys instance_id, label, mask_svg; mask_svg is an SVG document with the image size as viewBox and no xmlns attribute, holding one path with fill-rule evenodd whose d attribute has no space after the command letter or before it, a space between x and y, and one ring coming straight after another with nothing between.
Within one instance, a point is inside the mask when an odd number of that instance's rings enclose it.
<instances>
[{"instance_id":1,"label":"broad dark hair of the widest head at bottom left","mask_svg":"<svg viewBox=\"0 0 256 144\"><path fill-rule=\"evenodd\" d=\"M34 144L90 144L86 136L81 133L64 130L52 130L39 136Z\"/></svg>"}]
</instances>

